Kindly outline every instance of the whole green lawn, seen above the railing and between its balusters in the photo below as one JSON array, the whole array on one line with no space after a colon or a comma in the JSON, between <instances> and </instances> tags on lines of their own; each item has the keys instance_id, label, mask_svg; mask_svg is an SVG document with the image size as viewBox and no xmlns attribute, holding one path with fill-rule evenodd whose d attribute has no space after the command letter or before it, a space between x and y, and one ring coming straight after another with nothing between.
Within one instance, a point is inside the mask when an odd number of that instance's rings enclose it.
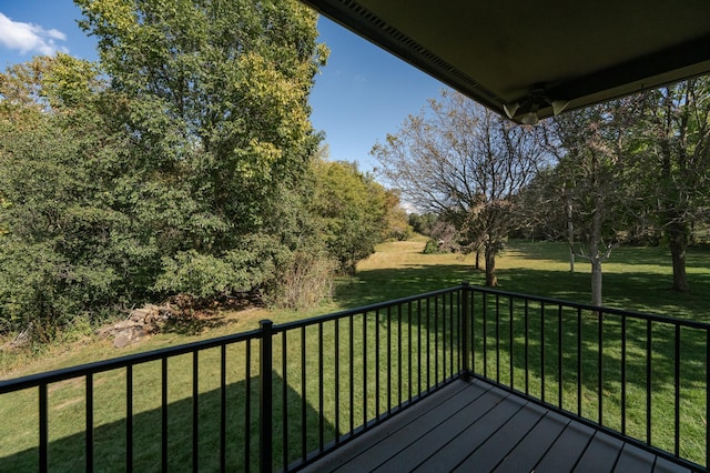
<instances>
[{"instance_id":1,"label":"whole green lawn, seen above the railing and between its balusters","mask_svg":"<svg viewBox=\"0 0 710 473\"><path fill-rule=\"evenodd\" d=\"M265 311L251 310L239 313L224 313L215 320L205 324L202 329L174 330L166 333L155 335L143 341L140 345L130 348L129 350L119 351L111 346L110 341L92 341L85 340L82 343L71 346L49 349L47 356L27 359L28 362L18 365L21 359L14 359L14 366L6 373L4 378L14 378L22 374L71 366L75 364L119 356L123 354L134 353L139 351L153 350L174 344L186 343L205 338L220 336L227 333L235 333L245 330L252 330L257 326L261 319L272 319L275 323L283 323L297 319L313 316L320 313L327 313L343 309L352 309L374 302L382 302L392 299L398 299L406 295L427 292L430 290L453 286L460 281L469 281L471 284L481 284L484 274L481 271L473 269L474 256L468 255L462 258L456 254L422 254L425 239L419 238L407 242L389 242L378 246L377 253L362 262L358 265L358 272L353 278L345 278L337 282L335 295L332 301L326 301L321 308L310 312L294 311ZM558 299L567 299L577 302L588 302L589 296L589 265L584 261L577 262L577 272L569 273L568 255L566 245L559 243L547 242L524 242L511 241L506 250L499 255L498 260L498 278L500 289L518 293L530 293ZM710 316L710 252L704 250L693 250L688 255L688 274L691 285L691 292L677 294L669 290L671 281L670 256L665 249L618 249L612 253L612 259L605 264L605 304L609 306L623 308L643 312L653 312L672 316L689 318L701 321L709 321ZM547 318L547 315L546 315ZM368 320L366 328L369 333L375 326L382 326L383 321ZM405 325L414 323L412 315L405 320ZM417 321L418 323L418 321ZM480 323L480 321L478 322ZM489 321L490 323L490 321ZM567 321L565 326L567 326ZM571 323L571 322L569 322ZM556 395L558 381L549 373L556 373L558 358L556 353L558 344L558 335L556 333L557 322L554 318L550 322L545 322L546 331L549 334L545 338L545 348L549 354L546 359L546 376L545 386L546 399ZM532 322L532 326L539 328L540 323ZM595 350L596 335L594 328L595 320L585 320L585 379L582 390L582 413L590 419L595 415L599 407L599 396L597 395L598 380L594 374L596 372ZM397 325L399 326L399 325ZM480 326L479 326L480 329ZM506 321L501 321L501 333L506 332ZM636 340L633 346L629 351L629 356L636 356L639 360L645 356L642 350L643 336L641 336L645 328L633 325L627 328L630 331L630 340ZM326 353L333 353L332 340L335 333L333 326L326 326L324 336L327 344L324 350ZM346 351L347 338L349 329L341 333L341 343L338 350ZM355 334L359 333L359 325L355 329ZM406 330L406 329L397 329ZM489 330L489 329L488 329ZM538 330L537 335L535 330ZM535 353L539 353L539 329L530 332L530 344L532 353L532 363L535 363ZM661 331L662 332L662 331ZM480 333L480 332L479 332ZM493 332L489 332L493 333ZM645 332L643 332L645 333ZM607 419L617 419L619 416L619 386L615 381L619 371L620 360L620 328L617 323L609 322L604 328L605 339L605 383L602 385L604 411ZM292 336L292 335L290 335ZM305 341L288 341L287 351L288 360L293 355L291 353L300 353L303 346L308 353L317 353L317 348L313 345L317 334L315 328L305 332ZM567 340L564 334L564 344L574 343L574 340ZM672 419L668 421L668 405L672 405L673 391L669 386L672 385L672 343L668 343L668 335L657 333L655 336L653 358L656 362L655 381L653 381L653 413L655 416L655 443L662 447L672 447L672 431L658 431L658 425L671 425ZM683 335L686 336L686 335ZM702 359L704 356L704 346L699 344L694 346L692 335L688 335L688 343L683 341L683 356L688 354L691 359ZM280 341L276 341L275 351L282 350ZM490 342L489 342L490 343ZM487 346L489 363L494 361L499 364L498 376L506 379L510 375L508 366L510 363L510 353L514 355L515 383L516 388L523 383L523 370L520 366L520 350L524 338L520 333L515 333L513 346L505 343L500 345L500 352L493 351L491 345ZM537 344L536 344L537 343ZM359 348L356 348L359 350ZM483 345L476 345L478 363L480 363L480 353ZM227 423L227 442L230 444L248 444L252 449L255 445L256 431L252 423L251 439L244 439L245 423L250 422L250 417L244 414L253 411L253 419L257 416L257 405L255 389L256 382L252 380L258 361L254 346L246 346L241 343L229 349L230 363L227 364L227 402L230 405L239 406L236 410L229 412ZM689 352L689 351L692 351ZM245 358L251 358L248 363ZM385 360L388 353L387 346L382 346L381 359ZM372 356L372 349L371 354ZM211 471L219 469L215 464L219 447L219 350L209 350L201 352L197 363L200 364L200 444L201 444L201 470ZM327 356L326 356L327 358ZM636 360L635 358L635 360ZM314 358L310 356L310 365L307 366L308 380L317 380L317 363L314 366ZM406 358L405 358L406 361ZM170 470L180 471L189 470L191 465L190 449L185 447L190 443L190 425L192 421L192 366L194 360L191 355L172 359L168 363L168 373L171 381L169 391L170 410L168 419L170 420L169 439L171 442L170 451ZM362 362L361 362L362 363ZM412 363L407 362L409 365ZM576 360L564 359L562 365L565 371L574 370ZM384 365L384 362L383 362ZM387 364L392 366L390 363ZM248 366L248 368L246 368ZM488 370L493 370L489 364ZM359 366L362 369L363 365ZM483 365L477 366L483 370ZM358 370L359 370L358 369ZM275 370L275 380L281 383L286 378L286 383L280 384L285 388L284 397L291 413L297 413L300 419L305 420L308 436L306 440L307 450L317 449L320 425L315 420L317 405L311 401L318 399L317 382L308 382L303 385L298 376L292 373L300 372L301 366L286 366ZM338 368L341 370L341 368ZM368 379L375 376L374 368L368 366ZM683 379L688 381L688 390L683 391L682 406L683 416L689 417L683 425L688 432L683 432L687 439L682 447L682 454L693 461L702 462L704 459L704 433L702 425L704 419L702 413L704 410L704 391L701 389L701 378L704 376L704 366L689 365L683 366ZM362 370L359 370L362 371ZM539 371L539 370L538 370ZM160 469L160 402L161 402L161 365L159 362L148 363L140 366L133 373L135 392L134 392L134 414L136 427L134 430L136 437L134 459L136 465L144 470ZM491 376L495 371L487 374ZM382 373L381 373L382 374ZM535 374L535 373L534 373ZM539 393L542 383L538 378L531 381L531 392ZM341 411L335 415L337 396L334 392L338 392L341 401L346 396L347 383L343 380L347 378L347 373L343 372L339 378L338 386L334 386L335 379L333 373L324 376L324 384L328 385L326 397L323 401L325 407L324 413L327 416L324 431L334 433L335 425L346 425L348 423L347 413ZM495 376L494 376L495 378ZM534 376L535 378L535 376ZM700 380L700 381L699 381ZM646 383L645 375L633 372L630 374L629 381L631 386L627 393L627 410L630 411L631 423L628 426L630 433L642 439L646 420L645 407L641 397L645 397L642 386ZM355 380L359 383L359 379ZM566 392L565 406L575 411L576 399L576 380L574 376L565 376L564 385ZM125 430L124 412L125 412L125 371L116 371L95 376L94 379L94 405L97 414L94 416L97 457L102 459L99 470L114 471L122 470L123 455L125 450L125 441L122 432ZM174 386L174 388L172 388ZM405 380L405 390L406 380ZM81 447L84 439L84 391L85 384L83 380L58 383L50 386L50 457L60 459L55 471L74 470L78 465L83 464L81 456ZM253 392L253 393L252 393ZM250 403L246 403L246 393L252 393ZM303 394L306 394L305 396ZM550 394L552 393L552 394ZM359 394L358 394L359 395ZM381 394L382 395L382 394ZM369 399L375 395L368 393ZM308 403L304 402L307 397ZM317 404L317 402L315 403ZM384 404L384 400L383 400ZM686 409L690 405L691 407ZM698 409L694 409L698 407ZM354 413L356 419L363 414L361 411ZM367 411L367 407L365 409ZM301 416L303 413L303 416ZM365 416L376 414L373 409L365 413ZM12 471L33 470L33 462L37 460L34 445L37 444L37 392L28 391L18 393L14 397L6 396L0 400L0 416L2 419L11 419L12 422L0 424L0 470L4 471L6 466ZM298 436L301 423L291 422L287 426L288 432ZM342 429L341 429L342 430ZM283 454L278 442L275 443L276 455ZM287 454L291 460L297 459L302 453L300 449ZM174 454L173 454L174 452ZM236 469L244 469L244 459L242 455L230 453L227 463ZM100 466L100 467L99 467ZM254 466L252 464L252 466ZM80 466L79 466L80 467Z\"/></svg>"}]
</instances>

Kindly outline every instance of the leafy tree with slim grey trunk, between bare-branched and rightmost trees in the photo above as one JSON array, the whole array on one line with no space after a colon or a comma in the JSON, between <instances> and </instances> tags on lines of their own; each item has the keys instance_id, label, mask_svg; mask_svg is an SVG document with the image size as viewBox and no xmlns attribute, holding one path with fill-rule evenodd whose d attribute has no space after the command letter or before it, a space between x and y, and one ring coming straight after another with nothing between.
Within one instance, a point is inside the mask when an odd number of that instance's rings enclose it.
<instances>
[{"instance_id":1,"label":"leafy tree with slim grey trunk, between bare-branched and rightmost trees","mask_svg":"<svg viewBox=\"0 0 710 473\"><path fill-rule=\"evenodd\" d=\"M550 130L558 163L546 175L547 192L532 192L542 198L530 210L554 209L557 217L542 210L548 225L557 222L571 254L590 262L594 305L602 303L602 263L638 212L638 188L625 164L637 104L629 98L556 117Z\"/></svg>"}]
</instances>

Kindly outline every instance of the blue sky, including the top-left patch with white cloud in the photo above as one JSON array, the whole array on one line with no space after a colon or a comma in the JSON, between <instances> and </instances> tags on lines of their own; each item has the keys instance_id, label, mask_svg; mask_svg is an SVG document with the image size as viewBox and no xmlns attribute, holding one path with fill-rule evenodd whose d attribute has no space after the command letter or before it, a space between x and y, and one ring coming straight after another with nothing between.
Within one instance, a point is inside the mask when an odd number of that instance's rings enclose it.
<instances>
[{"instance_id":1,"label":"blue sky, including the top-left patch with white cloud","mask_svg":"<svg viewBox=\"0 0 710 473\"><path fill-rule=\"evenodd\" d=\"M0 0L0 68L53 51L95 60L94 39L77 26L80 16L72 0ZM445 85L325 18L318 31L331 58L311 94L313 125L325 132L331 159L371 171L375 142Z\"/></svg>"}]
</instances>

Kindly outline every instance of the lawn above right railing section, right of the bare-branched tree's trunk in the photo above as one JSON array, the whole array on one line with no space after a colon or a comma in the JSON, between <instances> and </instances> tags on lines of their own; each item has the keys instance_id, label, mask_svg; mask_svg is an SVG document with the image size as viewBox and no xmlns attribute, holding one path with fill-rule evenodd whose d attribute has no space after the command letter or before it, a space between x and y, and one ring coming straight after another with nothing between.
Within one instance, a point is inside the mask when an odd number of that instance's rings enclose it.
<instances>
[{"instance_id":1,"label":"lawn above right railing section, right of the bare-branched tree's trunk","mask_svg":"<svg viewBox=\"0 0 710 473\"><path fill-rule=\"evenodd\" d=\"M564 243L513 241L501 254L500 289L588 303L590 265L577 259L569 272ZM666 246L622 246L604 262L604 305L710 322L710 248L690 249L690 291L671 290L672 265Z\"/></svg>"}]
</instances>

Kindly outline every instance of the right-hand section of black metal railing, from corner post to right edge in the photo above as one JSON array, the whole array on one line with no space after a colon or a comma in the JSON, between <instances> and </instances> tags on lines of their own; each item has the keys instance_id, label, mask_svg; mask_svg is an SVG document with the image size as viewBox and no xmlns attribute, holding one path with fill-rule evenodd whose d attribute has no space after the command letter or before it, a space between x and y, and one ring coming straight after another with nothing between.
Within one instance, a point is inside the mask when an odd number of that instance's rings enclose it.
<instances>
[{"instance_id":1,"label":"right-hand section of black metal railing, from corner post to right edge","mask_svg":"<svg viewBox=\"0 0 710 473\"><path fill-rule=\"evenodd\" d=\"M710 324L469 293L475 376L692 471L710 465Z\"/></svg>"}]
</instances>

